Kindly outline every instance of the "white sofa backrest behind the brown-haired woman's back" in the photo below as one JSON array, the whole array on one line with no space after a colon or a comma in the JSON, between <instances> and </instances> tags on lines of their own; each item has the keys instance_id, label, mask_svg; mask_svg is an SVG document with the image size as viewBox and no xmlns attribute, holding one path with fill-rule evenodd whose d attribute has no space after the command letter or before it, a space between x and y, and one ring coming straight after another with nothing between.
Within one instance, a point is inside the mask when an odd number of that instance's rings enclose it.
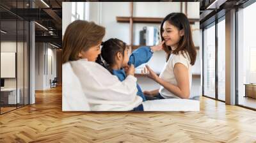
<instances>
[{"instance_id":1,"label":"white sofa backrest behind the brown-haired woman's back","mask_svg":"<svg viewBox=\"0 0 256 143\"><path fill-rule=\"evenodd\" d=\"M90 111L88 100L70 63L62 65L62 110Z\"/></svg>"}]
</instances>

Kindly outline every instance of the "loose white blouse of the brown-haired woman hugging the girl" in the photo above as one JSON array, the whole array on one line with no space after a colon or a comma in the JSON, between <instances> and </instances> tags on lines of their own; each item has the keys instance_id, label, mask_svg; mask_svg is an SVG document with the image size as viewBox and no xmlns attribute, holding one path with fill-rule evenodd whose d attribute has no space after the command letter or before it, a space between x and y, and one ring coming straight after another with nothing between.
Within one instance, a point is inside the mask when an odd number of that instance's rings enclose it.
<instances>
[{"instance_id":1,"label":"loose white blouse of the brown-haired woman hugging the girl","mask_svg":"<svg viewBox=\"0 0 256 143\"><path fill-rule=\"evenodd\" d=\"M86 59L70 61L65 64L70 64L72 67L72 71L77 79L79 79L81 88L83 89L83 96L86 97L76 100L87 100L84 103L88 103L90 110L132 110L142 103L142 98L136 95L138 91L136 77L128 75L124 81L120 82L115 75L112 75L100 64L87 61ZM65 77L63 77L63 84L65 84L64 79ZM72 91L68 87L65 88L67 89L64 91ZM67 91L67 93L70 92ZM64 98L68 98L69 96L75 95L65 94ZM68 102L68 105L72 107L76 107L76 100L73 98L73 101L65 100L65 102Z\"/></svg>"}]
</instances>

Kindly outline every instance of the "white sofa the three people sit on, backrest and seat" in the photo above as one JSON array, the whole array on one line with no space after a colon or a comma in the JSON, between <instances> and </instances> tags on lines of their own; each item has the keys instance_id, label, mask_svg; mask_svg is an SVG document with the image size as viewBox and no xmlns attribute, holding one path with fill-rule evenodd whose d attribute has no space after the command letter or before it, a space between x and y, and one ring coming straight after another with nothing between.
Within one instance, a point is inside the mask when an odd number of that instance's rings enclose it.
<instances>
[{"instance_id":1,"label":"white sofa the three people sit on, backrest and seat","mask_svg":"<svg viewBox=\"0 0 256 143\"><path fill-rule=\"evenodd\" d=\"M62 110L63 111L90 111L90 106L83 94L81 85L70 66L62 66ZM145 111L199 111L200 102L198 100L185 99L164 99L149 100L143 102Z\"/></svg>"}]
</instances>

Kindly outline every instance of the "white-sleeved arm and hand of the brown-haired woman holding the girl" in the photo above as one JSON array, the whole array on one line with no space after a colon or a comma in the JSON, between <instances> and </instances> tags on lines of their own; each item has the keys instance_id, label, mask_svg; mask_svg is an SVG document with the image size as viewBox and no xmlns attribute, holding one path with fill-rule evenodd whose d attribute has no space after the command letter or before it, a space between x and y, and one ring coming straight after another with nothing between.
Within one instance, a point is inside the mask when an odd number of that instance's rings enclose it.
<instances>
[{"instance_id":1,"label":"white-sleeved arm and hand of the brown-haired woman holding the girl","mask_svg":"<svg viewBox=\"0 0 256 143\"><path fill-rule=\"evenodd\" d=\"M133 76L133 65L129 67L127 77L122 82L96 63L75 61L72 63L72 70L79 79L84 93L90 99L133 102L137 96L137 79Z\"/></svg>"}]
</instances>

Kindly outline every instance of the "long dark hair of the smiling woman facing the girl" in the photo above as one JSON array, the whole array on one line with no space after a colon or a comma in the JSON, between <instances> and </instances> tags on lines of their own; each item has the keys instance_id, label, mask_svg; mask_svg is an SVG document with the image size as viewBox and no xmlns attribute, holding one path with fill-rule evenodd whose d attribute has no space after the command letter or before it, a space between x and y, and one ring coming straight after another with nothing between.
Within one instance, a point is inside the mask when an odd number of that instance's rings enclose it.
<instances>
[{"instance_id":1,"label":"long dark hair of the smiling woman facing the girl","mask_svg":"<svg viewBox=\"0 0 256 143\"><path fill-rule=\"evenodd\" d=\"M173 26L177 27L179 30L184 30L184 36L180 39L178 47L175 50L172 50L170 46L163 44L164 51L166 52L166 61L168 61L171 54L179 54L180 51L185 51L188 53L190 64L194 65L196 60L196 49L192 38L192 32L189 25L189 20L184 15L184 13L170 13L164 17L161 22L161 39L163 40L163 25L164 22L169 22Z\"/></svg>"}]
</instances>

